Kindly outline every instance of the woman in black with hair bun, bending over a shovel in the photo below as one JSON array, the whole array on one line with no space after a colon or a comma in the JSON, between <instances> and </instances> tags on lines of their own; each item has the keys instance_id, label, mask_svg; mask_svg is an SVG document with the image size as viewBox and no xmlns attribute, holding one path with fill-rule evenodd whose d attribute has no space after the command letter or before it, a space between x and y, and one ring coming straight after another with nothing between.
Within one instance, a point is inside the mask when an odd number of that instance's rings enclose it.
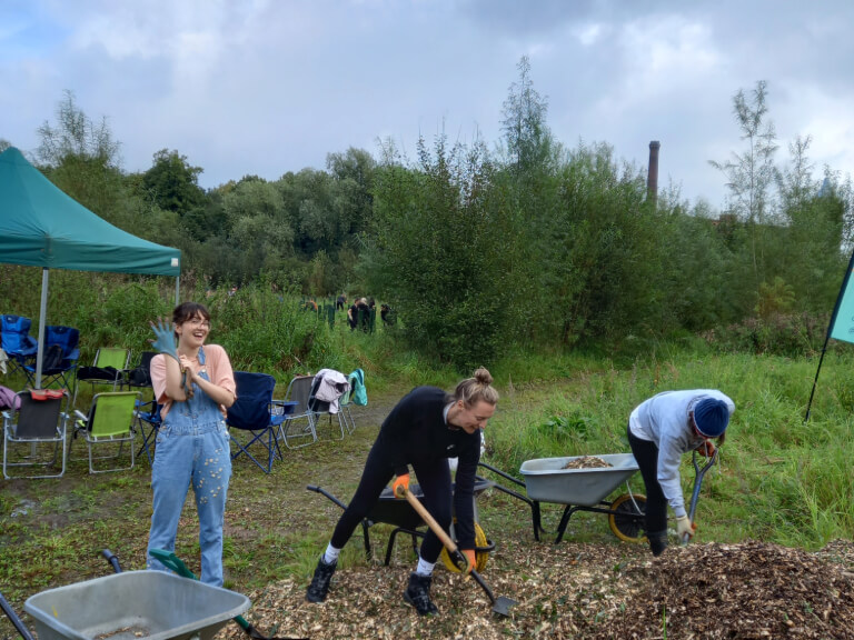
<instances>
[{"instance_id":1,"label":"woman in black with hair bun, bending over a shovel","mask_svg":"<svg viewBox=\"0 0 854 640\"><path fill-rule=\"evenodd\" d=\"M445 531L450 527L451 513L456 514L458 544L474 568L474 487L480 459L480 432L498 403L498 392L491 383L489 371L480 368L474 378L457 384L453 396L435 387L418 387L391 410L368 453L356 494L317 562L306 592L309 602L326 600L341 549L377 503L386 484L394 479L396 496L398 488L409 490L409 464L418 477L425 508ZM451 492L448 458L456 457L459 466L456 489ZM438 613L430 600L430 584L440 552L441 541L428 531L421 542L418 566L409 574L404 592L404 600L415 607L419 616Z\"/></svg>"}]
</instances>

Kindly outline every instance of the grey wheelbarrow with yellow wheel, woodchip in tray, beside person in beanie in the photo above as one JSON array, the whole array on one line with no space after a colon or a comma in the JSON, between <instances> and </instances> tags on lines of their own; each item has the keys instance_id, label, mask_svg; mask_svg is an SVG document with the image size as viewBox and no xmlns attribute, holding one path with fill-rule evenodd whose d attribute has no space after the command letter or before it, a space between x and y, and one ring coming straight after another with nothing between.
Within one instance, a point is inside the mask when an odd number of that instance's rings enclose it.
<instances>
[{"instance_id":1,"label":"grey wheelbarrow with yellow wheel, woodchip in tray, beside person in beanie","mask_svg":"<svg viewBox=\"0 0 854 640\"><path fill-rule=\"evenodd\" d=\"M646 497L633 493L628 486L628 480L638 470L632 453L527 460L519 468L519 472L525 477L524 482L485 462L480 462L479 467L525 488L525 493L522 493L498 482L494 483L498 491L523 500L530 507L536 540L539 540L540 532L548 533L543 528L543 502L565 506L555 543L563 539L569 518L576 511L606 514L610 530L620 540L638 542L645 537L643 528ZM623 483L626 486L626 493L610 501L605 500Z\"/></svg>"}]
</instances>

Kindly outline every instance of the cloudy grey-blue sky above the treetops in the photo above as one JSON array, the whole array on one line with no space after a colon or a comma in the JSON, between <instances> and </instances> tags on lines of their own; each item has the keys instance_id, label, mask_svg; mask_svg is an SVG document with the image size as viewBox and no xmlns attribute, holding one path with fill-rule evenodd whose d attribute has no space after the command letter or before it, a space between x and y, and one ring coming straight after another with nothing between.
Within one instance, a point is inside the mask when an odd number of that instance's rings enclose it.
<instances>
[{"instance_id":1,"label":"cloudy grey-blue sky above the treetops","mask_svg":"<svg viewBox=\"0 0 854 640\"><path fill-rule=\"evenodd\" d=\"M733 94L768 83L778 162L797 136L854 172L854 2L826 0L0 0L0 138L24 152L63 91L126 171L175 149L202 187L275 180L349 147L500 139L523 56L565 146L607 142L724 201Z\"/></svg>"}]
</instances>

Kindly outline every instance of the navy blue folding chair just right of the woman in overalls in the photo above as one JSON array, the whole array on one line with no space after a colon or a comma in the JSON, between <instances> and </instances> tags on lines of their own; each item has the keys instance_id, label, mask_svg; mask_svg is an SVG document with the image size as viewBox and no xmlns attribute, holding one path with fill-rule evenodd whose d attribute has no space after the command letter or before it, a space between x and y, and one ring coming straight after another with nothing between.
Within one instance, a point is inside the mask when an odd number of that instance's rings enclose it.
<instances>
[{"instance_id":1,"label":"navy blue folding chair just right of the woman in overalls","mask_svg":"<svg viewBox=\"0 0 854 640\"><path fill-rule=\"evenodd\" d=\"M237 446L237 451L231 453L231 460L246 453L261 471L269 473L272 471L276 456L281 458L276 431L287 419L287 411L292 403L272 399L276 389L276 378L272 376L235 371L235 383L237 400L228 408L226 422L231 429L247 431L249 436L248 441L242 443L234 431L229 432L231 442ZM249 448L256 443L257 448L262 447L265 450L266 467L249 452Z\"/></svg>"}]
</instances>

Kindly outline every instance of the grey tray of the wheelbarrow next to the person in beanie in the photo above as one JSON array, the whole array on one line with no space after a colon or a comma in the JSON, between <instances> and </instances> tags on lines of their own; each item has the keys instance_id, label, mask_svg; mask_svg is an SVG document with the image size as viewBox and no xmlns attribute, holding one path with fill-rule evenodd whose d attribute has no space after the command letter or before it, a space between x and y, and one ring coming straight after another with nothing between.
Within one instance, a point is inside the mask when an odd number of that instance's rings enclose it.
<instances>
[{"instance_id":1,"label":"grey tray of the wheelbarrow next to the person in beanie","mask_svg":"<svg viewBox=\"0 0 854 640\"><path fill-rule=\"evenodd\" d=\"M596 456L610 467L602 469L564 469L567 462L584 458L538 458L523 462L519 469L530 500L594 507L628 480L638 469L632 453Z\"/></svg>"}]
</instances>

